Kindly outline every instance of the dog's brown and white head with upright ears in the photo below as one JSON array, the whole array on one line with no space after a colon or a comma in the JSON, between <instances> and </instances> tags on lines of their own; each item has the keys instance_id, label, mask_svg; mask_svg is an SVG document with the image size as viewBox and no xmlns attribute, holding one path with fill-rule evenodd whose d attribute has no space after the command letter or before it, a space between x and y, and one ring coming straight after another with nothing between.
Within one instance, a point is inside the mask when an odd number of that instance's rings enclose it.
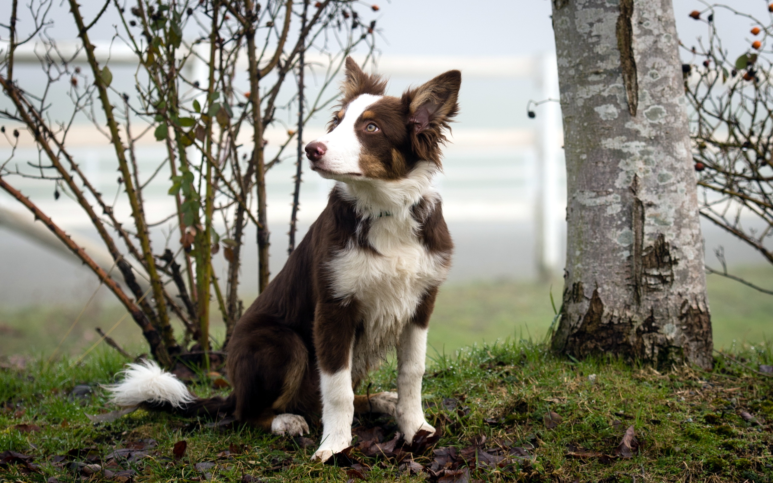
<instances>
[{"instance_id":1,"label":"dog's brown and white head with upright ears","mask_svg":"<svg viewBox=\"0 0 773 483\"><path fill-rule=\"evenodd\" d=\"M306 145L312 169L343 182L402 179L417 162L440 167L444 130L458 112L461 73L449 70L402 97L346 59L343 98L327 134Z\"/></svg>"}]
</instances>

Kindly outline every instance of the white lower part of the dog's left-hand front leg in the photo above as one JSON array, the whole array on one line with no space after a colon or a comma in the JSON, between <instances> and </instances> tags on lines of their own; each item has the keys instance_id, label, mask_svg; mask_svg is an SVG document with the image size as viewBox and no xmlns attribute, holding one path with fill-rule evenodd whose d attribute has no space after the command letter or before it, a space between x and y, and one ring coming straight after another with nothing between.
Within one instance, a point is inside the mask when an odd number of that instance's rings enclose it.
<instances>
[{"instance_id":1,"label":"white lower part of the dog's left-hand front leg","mask_svg":"<svg viewBox=\"0 0 773 483\"><path fill-rule=\"evenodd\" d=\"M312 460L325 461L352 444L354 391L350 368L351 364L333 374L319 371L319 389L322 393L322 443L319 444Z\"/></svg>"}]
</instances>

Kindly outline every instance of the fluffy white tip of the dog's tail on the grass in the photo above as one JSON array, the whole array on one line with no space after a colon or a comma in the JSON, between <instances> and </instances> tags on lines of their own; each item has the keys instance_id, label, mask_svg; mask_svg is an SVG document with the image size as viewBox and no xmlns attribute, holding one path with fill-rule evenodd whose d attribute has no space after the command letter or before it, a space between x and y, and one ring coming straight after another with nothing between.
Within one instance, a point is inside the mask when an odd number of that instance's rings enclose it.
<instances>
[{"instance_id":1,"label":"fluffy white tip of the dog's tail on the grass","mask_svg":"<svg viewBox=\"0 0 773 483\"><path fill-rule=\"evenodd\" d=\"M165 372L153 361L145 359L139 364L129 364L123 373L121 383L105 386L112 394L112 402L118 406L148 402L180 407L196 400L177 376Z\"/></svg>"}]
</instances>

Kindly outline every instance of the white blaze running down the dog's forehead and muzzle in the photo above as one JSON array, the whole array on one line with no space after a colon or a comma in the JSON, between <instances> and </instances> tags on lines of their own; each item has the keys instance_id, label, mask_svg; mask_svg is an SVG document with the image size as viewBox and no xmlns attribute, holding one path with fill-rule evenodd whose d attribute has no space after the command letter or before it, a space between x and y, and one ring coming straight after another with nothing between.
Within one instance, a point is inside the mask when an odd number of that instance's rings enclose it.
<instances>
[{"instance_id":1,"label":"white blaze running down the dog's forehead and muzzle","mask_svg":"<svg viewBox=\"0 0 773 483\"><path fill-rule=\"evenodd\" d=\"M359 152L361 146L354 131L354 124L366 109L383 96L361 94L346 107L344 117L328 134L315 141L321 142L327 148L325 155L316 163L318 169L325 172L325 177L336 178L335 175L363 175L359 167ZM332 176L331 176L332 175Z\"/></svg>"}]
</instances>

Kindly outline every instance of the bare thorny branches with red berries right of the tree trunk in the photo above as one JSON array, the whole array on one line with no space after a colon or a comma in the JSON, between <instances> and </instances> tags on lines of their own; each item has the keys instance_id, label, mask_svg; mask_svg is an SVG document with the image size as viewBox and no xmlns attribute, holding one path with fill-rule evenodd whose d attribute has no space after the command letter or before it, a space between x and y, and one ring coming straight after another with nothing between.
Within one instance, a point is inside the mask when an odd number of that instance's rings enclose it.
<instances>
[{"instance_id":1,"label":"bare thorny branches with red berries right of the tree trunk","mask_svg":"<svg viewBox=\"0 0 773 483\"><path fill-rule=\"evenodd\" d=\"M723 46L714 22L721 14L749 20L745 52L730 53ZM691 16L707 27L706 39L699 38L697 46L682 46L691 57L682 70L700 214L773 264L773 23L721 4L706 4ZM707 267L708 273L773 294L728 274L724 250L717 257L723 269Z\"/></svg>"}]
</instances>

